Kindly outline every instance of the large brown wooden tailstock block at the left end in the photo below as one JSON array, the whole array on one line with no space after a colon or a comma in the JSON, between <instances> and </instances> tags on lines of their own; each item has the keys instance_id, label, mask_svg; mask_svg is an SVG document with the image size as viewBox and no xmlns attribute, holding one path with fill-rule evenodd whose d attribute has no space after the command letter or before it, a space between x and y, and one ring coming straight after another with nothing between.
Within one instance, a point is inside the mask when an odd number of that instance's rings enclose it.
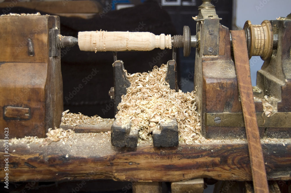
<instances>
[{"instance_id":1,"label":"large brown wooden tailstock block at the left end","mask_svg":"<svg viewBox=\"0 0 291 193\"><path fill-rule=\"evenodd\" d=\"M45 137L63 112L60 54L49 57L59 17L1 16L0 26L0 138L6 127L9 138Z\"/></svg>"}]
</instances>

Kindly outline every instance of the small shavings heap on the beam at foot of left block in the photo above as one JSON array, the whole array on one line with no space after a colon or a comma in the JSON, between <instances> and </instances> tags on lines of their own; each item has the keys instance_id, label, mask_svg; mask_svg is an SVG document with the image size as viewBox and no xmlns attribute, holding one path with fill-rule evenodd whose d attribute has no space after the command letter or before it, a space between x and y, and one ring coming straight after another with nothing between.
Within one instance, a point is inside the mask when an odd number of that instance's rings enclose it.
<instances>
[{"instance_id":1,"label":"small shavings heap on the beam at foot of left block","mask_svg":"<svg viewBox=\"0 0 291 193\"><path fill-rule=\"evenodd\" d=\"M9 140L9 144L18 144L18 143L44 143L49 144L52 141L63 141L65 143L69 138L72 138L75 132L71 129L63 130L62 128L52 129L49 128L47 132L47 138L38 138L38 137L24 137L24 138L13 138Z\"/></svg>"}]
</instances>

